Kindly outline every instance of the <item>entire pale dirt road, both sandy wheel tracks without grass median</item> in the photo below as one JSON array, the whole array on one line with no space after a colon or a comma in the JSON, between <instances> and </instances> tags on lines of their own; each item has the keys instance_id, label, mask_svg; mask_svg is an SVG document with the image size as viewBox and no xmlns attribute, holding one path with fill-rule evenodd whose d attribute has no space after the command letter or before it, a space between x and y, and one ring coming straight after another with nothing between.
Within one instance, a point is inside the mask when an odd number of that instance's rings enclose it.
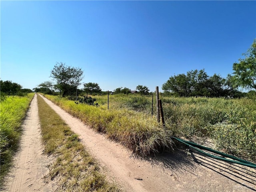
<instances>
[{"instance_id":1,"label":"entire pale dirt road, both sandy wheel tracks without grass median","mask_svg":"<svg viewBox=\"0 0 256 192\"><path fill-rule=\"evenodd\" d=\"M114 178L124 191L256 191L255 169L212 160L186 150L177 150L174 154L162 154L154 158L141 160L133 157L132 153L120 144L112 142L106 139L104 135L94 132L84 125L83 122L74 118L46 98L44 100L65 120L74 132L80 135L81 142L100 162L104 172L108 174L108 177ZM36 108L35 102L36 97L32 101L30 110L34 107ZM33 133L32 131L25 131L24 138L28 141L32 140L31 137L33 137L39 143L40 136L34 133L39 132L38 117L29 111L28 118L29 122L34 122L36 119L36 122L33 123L35 130L33 130ZM27 148L24 151L31 148L31 142L28 142L29 144L27 145L22 144L22 148ZM36 154L36 157L32 157L32 159L39 158L43 160L46 158L40 156L42 153L41 146L38 146L37 150L30 153L36 152L39 152L39 154ZM21 160L18 162L23 162L24 154L19 155L19 157ZM11 186L16 185L17 187L9 188L9 191L32 191L34 190L32 186L37 186L35 190L52 191L47 186L44 188L42 186L43 181L40 179L47 172L44 167L45 164L34 164L36 162L34 159L31 161L25 162L22 166L16 166L17 174L12 174L13 184ZM35 169L34 172L38 172L34 182L30 182L31 177L28 176L30 172L33 172L31 171L32 167ZM27 168L30 168L30 170L26 170ZM26 184L27 181L29 182ZM33 185L30 186L32 183Z\"/></svg>"}]
</instances>

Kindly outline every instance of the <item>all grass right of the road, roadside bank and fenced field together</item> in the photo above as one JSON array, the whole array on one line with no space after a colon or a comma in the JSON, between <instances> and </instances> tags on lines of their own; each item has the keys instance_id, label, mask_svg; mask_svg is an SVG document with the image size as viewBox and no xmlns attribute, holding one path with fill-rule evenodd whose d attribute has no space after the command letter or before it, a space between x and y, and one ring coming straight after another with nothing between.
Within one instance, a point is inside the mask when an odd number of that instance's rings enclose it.
<instances>
[{"instance_id":1,"label":"all grass right of the road, roadside bank and fenced field together","mask_svg":"<svg viewBox=\"0 0 256 192\"><path fill-rule=\"evenodd\" d=\"M255 99L161 97L166 128L151 117L151 96L93 96L100 107L47 96L92 128L142 156L172 148L169 136L210 138L216 149L242 158L256 156Z\"/></svg>"}]
</instances>

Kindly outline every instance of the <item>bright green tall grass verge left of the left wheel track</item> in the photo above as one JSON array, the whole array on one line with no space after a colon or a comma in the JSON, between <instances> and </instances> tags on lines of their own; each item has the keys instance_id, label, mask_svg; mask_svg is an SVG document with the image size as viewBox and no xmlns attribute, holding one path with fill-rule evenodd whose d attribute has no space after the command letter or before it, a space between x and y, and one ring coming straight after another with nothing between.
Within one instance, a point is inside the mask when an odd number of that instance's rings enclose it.
<instances>
[{"instance_id":1,"label":"bright green tall grass verge left of the left wheel track","mask_svg":"<svg viewBox=\"0 0 256 192\"><path fill-rule=\"evenodd\" d=\"M10 97L1 101L0 111L0 161L1 179L8 172L14 151L18 147L22 120L34 94Z\"/></svg>"}]
</instances>

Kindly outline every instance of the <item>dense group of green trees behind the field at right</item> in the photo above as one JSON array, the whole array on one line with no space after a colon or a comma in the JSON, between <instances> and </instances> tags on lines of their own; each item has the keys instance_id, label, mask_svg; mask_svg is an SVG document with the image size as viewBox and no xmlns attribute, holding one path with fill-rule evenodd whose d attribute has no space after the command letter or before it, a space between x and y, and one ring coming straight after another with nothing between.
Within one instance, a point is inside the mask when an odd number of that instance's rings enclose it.
<instances>
[{"instance_id":1,"label":"dense group of green trees behind the field at right","mask_svg":"<svg viewBox=\"0 0 256 192\"><path fill-rule=\"evenodd\" d=\"M218 74L208 76L204 69L191 70L186 74L171 76L162 85L162 90L185 97L241 96L238 87L256 90L256 40L243 55L244 59L239 59L238 63L233 64L233 76L228 74L226 78L222 78Z\"/></svg>"}]
</instances>

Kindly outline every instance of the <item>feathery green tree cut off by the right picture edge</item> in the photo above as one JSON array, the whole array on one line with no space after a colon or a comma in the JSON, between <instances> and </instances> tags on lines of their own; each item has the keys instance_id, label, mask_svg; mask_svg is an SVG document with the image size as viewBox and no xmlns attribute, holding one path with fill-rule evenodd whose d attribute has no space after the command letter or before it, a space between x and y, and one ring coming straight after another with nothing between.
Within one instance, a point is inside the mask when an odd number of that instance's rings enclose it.
<instances>
[{"instance_id":1,"label":"feathery green tree cut off by the right picture edge","mask_svg":"<svg viewBox=\"0 0 256 192\"><path fill-rule=\"evenodd\" d=\"M248 51L242 55L244 58L240 58L238 63L233 64L232 81L236 87L256 90L256 39Z\"/></svg>"}]
</instances>

